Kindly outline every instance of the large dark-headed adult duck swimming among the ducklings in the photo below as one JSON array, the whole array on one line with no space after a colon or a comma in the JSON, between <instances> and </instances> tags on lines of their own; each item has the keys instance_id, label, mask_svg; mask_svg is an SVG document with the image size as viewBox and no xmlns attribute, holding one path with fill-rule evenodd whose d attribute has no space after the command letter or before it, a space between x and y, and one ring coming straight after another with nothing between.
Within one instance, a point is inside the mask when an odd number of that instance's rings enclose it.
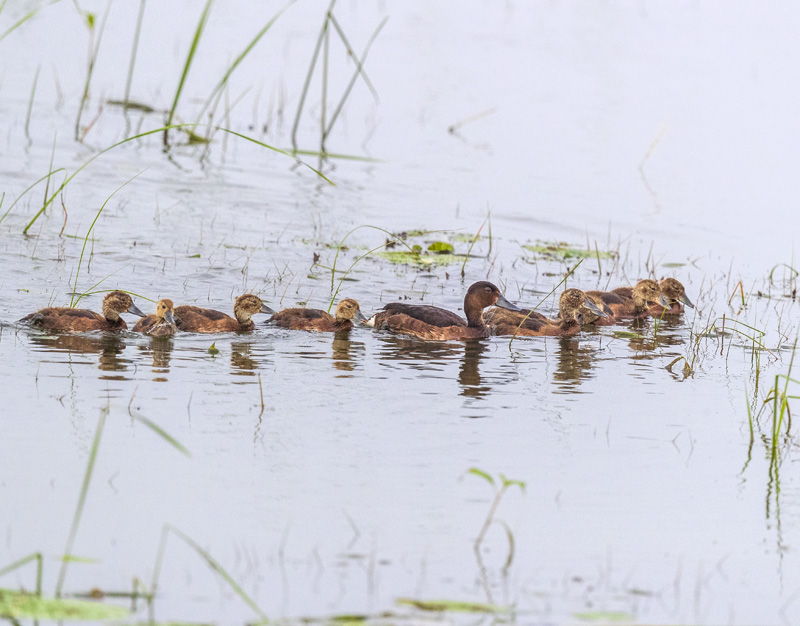
<instances>
[{"instance_id":1,"label":"large dark-headed adult duck swimming among the ducklings","mask_svg":"<svg viewBox=\"0 0 800 626\"><path fill-rule=\"evenodd\" d=\"M373 315L367 325L432 341L482 339L490 334L483 321L483 310L489 306L519 311L492 283L480 281L473 284L464 296L466 321L439 307L392 302Z\"/></svg>"}]
</instances>

